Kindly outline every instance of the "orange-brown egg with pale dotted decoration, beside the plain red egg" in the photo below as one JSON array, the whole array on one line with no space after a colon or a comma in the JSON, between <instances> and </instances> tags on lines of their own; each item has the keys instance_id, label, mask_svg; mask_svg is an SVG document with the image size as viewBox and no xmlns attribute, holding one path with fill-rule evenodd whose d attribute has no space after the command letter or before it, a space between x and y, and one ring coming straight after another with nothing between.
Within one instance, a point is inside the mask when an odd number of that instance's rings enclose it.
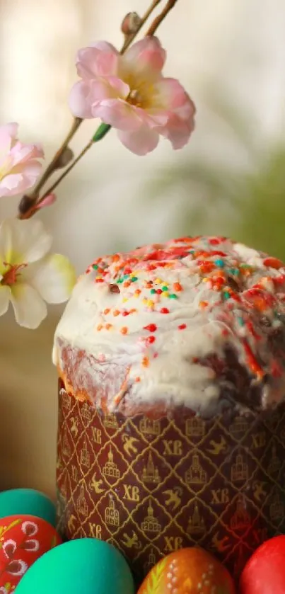
<instances>
[{"instance_id":1,"label":"orange-brown egg with pale dotted decoration, beside the plain red egg","mask_svg":"<svg viewBox=\"0 0 285 594\"><path fill-rule=\"evenodd\" d=\"M138 594L235 594L228 570L213 556L191 547L179 549L151 569Z\"/></svg>"}]
</instances>

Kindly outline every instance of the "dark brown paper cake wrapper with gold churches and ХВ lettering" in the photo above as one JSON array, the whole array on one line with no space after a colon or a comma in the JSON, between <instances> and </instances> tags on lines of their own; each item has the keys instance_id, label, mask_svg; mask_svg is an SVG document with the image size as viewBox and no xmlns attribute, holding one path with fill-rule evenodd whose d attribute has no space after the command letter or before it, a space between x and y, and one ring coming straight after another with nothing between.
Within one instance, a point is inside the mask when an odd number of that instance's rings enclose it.
<instances>
[{"instance_id":1,"label":"dark brown paper cake wrapper with gold churches and \u0425\u0412 lettering","mask_svg":"<svg viewBox=\"0 0 285 594\"><path fill-rule=\"evenodd\" d=\"M285 408L203 420L103 414L59 380L57 489L66 539L115 545L143 578L199 544L238 578L252 552L285 532Z\"/></svg>"}]
</instances>

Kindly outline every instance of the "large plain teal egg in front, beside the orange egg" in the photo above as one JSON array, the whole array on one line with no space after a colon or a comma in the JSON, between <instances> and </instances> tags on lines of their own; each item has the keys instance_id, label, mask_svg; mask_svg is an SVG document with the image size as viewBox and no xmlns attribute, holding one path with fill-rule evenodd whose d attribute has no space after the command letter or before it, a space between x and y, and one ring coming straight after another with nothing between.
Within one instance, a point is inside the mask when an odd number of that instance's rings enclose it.
<instances>
[{"instance_id":1,"label":"large plain teal egg in front, beside the orange egg","mask_svg":"<svg viewBox=\"0 0 285 594\"><path fill-rule=\"evenodd\" d=\"M103 540L70 540L45 553L24 574L16 594L134 594L122 554Z\"/></svg>"}]
</instances>

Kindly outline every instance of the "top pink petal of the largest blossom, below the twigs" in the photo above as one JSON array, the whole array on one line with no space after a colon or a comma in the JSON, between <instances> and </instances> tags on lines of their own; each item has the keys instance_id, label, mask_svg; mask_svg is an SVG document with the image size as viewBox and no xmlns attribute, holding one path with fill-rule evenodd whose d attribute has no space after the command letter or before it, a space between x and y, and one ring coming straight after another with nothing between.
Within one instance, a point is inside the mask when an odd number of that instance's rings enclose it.
<instances>
[{"instance_id":1,"label":"top pink petal of the largest blossom, below the twigs","mask_svg":"<svg viewBox=\"0 0 285 594\"><path fill-rule=\"evenodd\" d=\"M126 67L134 65L136 74L151 71L156 75L161 73L165 63L166 52L156 37L145 37L131 45L122 57L122 64Z\"/></svg>"}]
</instances>

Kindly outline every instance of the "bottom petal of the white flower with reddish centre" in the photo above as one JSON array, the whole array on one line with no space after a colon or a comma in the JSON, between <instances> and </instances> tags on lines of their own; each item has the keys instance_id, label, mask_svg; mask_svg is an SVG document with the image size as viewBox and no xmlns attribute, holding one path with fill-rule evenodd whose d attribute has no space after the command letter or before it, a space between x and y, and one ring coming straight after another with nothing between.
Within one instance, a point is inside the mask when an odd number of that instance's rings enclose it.
<instances>
[{"instance_id":1,"label":"bottom petal of the white flower with reddish centre","mask_svg":"<svg viewBox=\"0 0 285 594\"><path fill-rule=\"evenodd\" d=\"M37 328L47 315L47 306L42 297L33 287L24 283L13 285L11 302L16 321L25 328Z\"/></svg>"}]
</instances>

